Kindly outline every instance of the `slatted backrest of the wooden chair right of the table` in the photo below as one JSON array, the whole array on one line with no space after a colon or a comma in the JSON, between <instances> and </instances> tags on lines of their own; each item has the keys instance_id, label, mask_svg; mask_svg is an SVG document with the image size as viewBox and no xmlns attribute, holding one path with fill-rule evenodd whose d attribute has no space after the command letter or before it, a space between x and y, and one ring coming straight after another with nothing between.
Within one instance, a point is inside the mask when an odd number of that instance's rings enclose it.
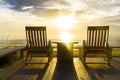
<instances>
[{"instance_id":1,"label":"slatted backrest of the wooden chair right of the table","mask_svg":"<svg viewBox=\"0 0 120 80\"><path fill-rule=\"evenodd\" d=\"M87 45L90 47L106 47L109 26L88 26Z\"/></svg>"}]
</instances>

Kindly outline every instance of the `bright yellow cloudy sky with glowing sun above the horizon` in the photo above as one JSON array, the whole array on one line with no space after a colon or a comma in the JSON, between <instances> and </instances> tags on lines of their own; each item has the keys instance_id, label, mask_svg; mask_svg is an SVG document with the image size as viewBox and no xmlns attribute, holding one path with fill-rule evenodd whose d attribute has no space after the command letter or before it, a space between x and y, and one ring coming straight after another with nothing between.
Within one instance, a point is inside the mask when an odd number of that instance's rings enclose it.
<instances>
[{"instance_id":1,"label":"bright yellow cloudy sky with glowing sun above the horizon","mask_svg":"<svg viewBox=\"0 0 120 80\"><path fill-rule=\"evenodd\" d=\"M0 0L0 39L25 39L25 26L46 26L49 39L85 39L90 25L109 25L120 40L120 0Z\"/></svg>"}]
</instances>

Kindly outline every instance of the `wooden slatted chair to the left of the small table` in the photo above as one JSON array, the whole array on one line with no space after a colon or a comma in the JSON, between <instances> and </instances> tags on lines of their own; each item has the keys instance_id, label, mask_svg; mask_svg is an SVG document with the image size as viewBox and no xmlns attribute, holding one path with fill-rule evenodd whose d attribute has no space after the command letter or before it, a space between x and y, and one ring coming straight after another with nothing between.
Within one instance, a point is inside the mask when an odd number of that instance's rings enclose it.
<instances>
[{"instance_id":1,"label":"wooden slatted chair to the left of the small table","mask_svg":"<svg viewBox=\"0 0 120 80\"><path fill-rule=\"evenodd\" d=\"M51 60L51 41L47 41L45 26L26 26L26 64L30 63L32 57L48 57Z\"/></svg>"}]
</instances>

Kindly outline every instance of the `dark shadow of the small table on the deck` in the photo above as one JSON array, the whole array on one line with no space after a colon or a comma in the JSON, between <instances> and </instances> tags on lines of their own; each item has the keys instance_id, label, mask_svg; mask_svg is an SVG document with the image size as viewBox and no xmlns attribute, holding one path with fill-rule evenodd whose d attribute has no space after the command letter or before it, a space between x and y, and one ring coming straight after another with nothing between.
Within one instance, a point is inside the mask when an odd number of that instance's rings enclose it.
<instances>
[{"instance_id":1,"label":"dark shadow of the small table on the deck","mask_svg":"<svg viewBox=\"0 0 120 80\"><path fill-rule=\"evenodd\" d=\"M73 63L57 63L52 80L78 80Z\"/></svg>"}]
</instances>

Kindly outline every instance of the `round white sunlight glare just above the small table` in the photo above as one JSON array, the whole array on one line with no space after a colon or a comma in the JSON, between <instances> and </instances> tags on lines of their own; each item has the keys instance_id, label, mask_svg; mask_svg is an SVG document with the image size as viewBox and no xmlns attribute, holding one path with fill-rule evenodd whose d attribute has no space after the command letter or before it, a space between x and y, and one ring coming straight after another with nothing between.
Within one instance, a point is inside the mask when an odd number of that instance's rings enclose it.
<instances>
[{"instance_id":1,"label":"round white sunlight glare just above the small table","mask_svg":"<svg viewBox=\"0 0 120 80\"><path fill-rule=\"evenodd\" d=\"M68 42L72 41L72 39L73 39L73 36L67 32L61 33L59 37L60 37L60 40L65 43L68 43Z\"/></svg>"}]
</instances>

